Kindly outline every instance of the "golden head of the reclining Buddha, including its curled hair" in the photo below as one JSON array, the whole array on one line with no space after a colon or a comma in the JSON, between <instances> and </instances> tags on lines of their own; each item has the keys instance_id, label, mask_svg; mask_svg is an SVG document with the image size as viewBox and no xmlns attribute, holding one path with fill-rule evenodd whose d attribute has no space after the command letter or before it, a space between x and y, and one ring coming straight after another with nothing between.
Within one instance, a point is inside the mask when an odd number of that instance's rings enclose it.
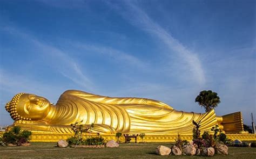
<instances>
[{"instance_id":1,"label":"golden head of the reclining Buddha, including its curled hair","mask_svg":"<svg viewBox=\"0 0 256 159\"><path fill-rule=\"evenodd\" d=\"M18 93L5 106L14 120L43 119L50 111L49 100L28 93Z\"/></svg>"}]
</instances>

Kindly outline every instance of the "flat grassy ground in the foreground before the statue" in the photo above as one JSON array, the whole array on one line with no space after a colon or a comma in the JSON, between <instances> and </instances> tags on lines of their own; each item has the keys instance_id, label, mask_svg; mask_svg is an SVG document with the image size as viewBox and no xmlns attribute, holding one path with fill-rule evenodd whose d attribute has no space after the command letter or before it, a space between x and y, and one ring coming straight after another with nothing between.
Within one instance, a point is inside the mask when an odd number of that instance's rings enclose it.
<instances>
[{"instance_id":1,"label":"flat grassy ground in the foreground before the statue","mask_svg":"<svg viewBox=\"0 0 256 159\"><path fill-rule=\"evenodd\" d=\"M56 143L34 142L29 147L1 147L0 158L205 158L200 156L158 156L159 145L170 143L121 143L117 148L58 148ZM211 158L256 158L256 148L229 147L229 155Z\"/></svg>"}]
</instances>

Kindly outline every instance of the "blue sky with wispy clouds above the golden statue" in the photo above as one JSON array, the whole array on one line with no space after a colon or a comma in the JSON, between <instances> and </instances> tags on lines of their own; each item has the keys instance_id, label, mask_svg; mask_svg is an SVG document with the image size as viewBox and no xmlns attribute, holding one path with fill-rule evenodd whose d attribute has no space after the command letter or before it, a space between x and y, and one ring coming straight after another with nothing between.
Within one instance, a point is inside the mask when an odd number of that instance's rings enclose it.
<instances>
[{"instance_id":1,"label":"blue sky with wispy clouds above the golden statue","mask_svg":"<svg viewBox=\"0 0 256 159\"><path fill-rule=\"evenodd\" d=\"M18 92L68 89L256 116L255 1L0 1L0 125ZM256 120L256 119L255 119Z\"/></svg>"}]
</instances>

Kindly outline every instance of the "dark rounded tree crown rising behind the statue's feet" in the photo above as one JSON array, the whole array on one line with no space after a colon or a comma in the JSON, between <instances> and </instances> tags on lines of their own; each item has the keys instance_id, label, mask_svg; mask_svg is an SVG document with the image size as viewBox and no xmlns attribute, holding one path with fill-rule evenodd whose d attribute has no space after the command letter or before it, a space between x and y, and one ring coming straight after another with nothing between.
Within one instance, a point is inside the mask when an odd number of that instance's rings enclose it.
<instances>
[{"instance_id":1,"label":"dark rounded tree crown rising behind the statue's feet","mask_svg":"<svg viewBox=\"0 0 256 159\"><path fill-rule=\"evenodd\" d=\"M197 102L201 107L204 107L205 112L208 112L218 106L220 103L220 97L216 92L204 90L200 92L195 99L195 102Z\"/></svg>"}]
</instances>

